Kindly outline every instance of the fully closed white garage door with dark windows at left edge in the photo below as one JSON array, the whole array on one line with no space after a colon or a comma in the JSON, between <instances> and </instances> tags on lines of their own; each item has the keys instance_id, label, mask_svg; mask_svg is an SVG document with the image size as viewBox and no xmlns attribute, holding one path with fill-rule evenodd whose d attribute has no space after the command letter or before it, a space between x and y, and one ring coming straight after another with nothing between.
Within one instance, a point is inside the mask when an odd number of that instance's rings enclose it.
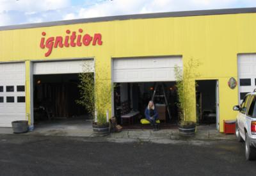
<instances>
[{"instance_id":1,"label":"fully closed white garage door with dark windows at left edge","mask_svg":"<svg viewBox=\"0 0 256 176\"><path fill-rule=\"evenodd\" d=\"M26 120L25 63L0 63L0 127Z\"/></svg>"}]
</instances>

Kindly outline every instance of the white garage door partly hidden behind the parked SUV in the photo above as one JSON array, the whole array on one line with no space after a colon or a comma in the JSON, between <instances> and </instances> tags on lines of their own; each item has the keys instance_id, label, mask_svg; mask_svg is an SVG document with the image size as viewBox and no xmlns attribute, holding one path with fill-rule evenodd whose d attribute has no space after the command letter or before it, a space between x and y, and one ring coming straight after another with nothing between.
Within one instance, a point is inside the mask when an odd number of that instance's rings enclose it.
<instances>
[{"instance_id":1,"label":"white garage door partly hidden behind the parked SUV","mask_svg":"<svg viewBox=\"0 0 256 176\"><path fill-rule=\"evenodd\" d=\"M256 54L239 54L238 85L239 100L256 88Z\"/></svg>"}]
</instances>

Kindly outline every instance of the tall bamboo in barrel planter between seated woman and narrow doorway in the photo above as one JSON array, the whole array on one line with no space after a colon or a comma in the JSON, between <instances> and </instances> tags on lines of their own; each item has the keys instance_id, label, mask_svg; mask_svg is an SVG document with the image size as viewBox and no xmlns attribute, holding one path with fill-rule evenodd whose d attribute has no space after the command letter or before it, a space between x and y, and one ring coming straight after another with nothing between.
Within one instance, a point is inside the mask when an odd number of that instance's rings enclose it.
<instances>
[{"instance_id":1,"label":"tall bamboo in barrel planter between seated woman and narrow doorway","mask_svg":"<svg viewBox=\"0 0 256 176\"><path fill-rule=\"evenodd\" d=\"M190 59L184 65L184 69L174 68L176 89L178 95L177 106L179 108L179 134L182 136L193 136L195 134L196 122L193 118L193 98L195 92L195 77L199 74L196 72L200 63L197 60Z\"/></svg>"}]
</instances>

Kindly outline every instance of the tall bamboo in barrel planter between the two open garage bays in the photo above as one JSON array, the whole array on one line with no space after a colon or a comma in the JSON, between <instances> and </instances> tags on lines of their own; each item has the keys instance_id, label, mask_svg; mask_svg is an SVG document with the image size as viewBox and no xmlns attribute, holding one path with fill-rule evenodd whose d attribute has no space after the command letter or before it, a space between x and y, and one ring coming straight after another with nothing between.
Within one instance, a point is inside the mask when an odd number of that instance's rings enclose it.
<instances>
[{"instance_id":1,"label":"tall bamboo in barrel planter between the two open garage bays","mask_svg":"<svg viewBox=\"0 0 256 176\"><path fill-rule=\"evenodd\" d=\"M79 74L80 99L77 100L77 104L84 106L92 116L94 134L106 136L109 134L108 109L111 109L113 84L111 84L110 80L102 79L99 76L102 70L98 70L96 74L93 74L93 72L90 72L90 68L90 64L85 61L83 72Z\"/></svg>"}]
</instances>

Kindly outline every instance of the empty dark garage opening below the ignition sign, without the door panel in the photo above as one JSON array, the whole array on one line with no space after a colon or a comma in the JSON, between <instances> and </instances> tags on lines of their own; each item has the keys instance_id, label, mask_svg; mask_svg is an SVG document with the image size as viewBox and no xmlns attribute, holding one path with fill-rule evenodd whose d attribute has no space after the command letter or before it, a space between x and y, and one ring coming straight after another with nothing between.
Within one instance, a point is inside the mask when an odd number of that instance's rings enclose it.
<instances>
[{"instance_id":1,"label":"empty dark garage opening below the ignition sign, without the door panel","mask_svg":"<svg viewBox=\"0 0 256 176\"><path fill-rule=\"evenodd\" d=\"M33 77L34 121L85 120L89 118L79 99L78 74L49 74Z\"/></svg>"}]
</instances>

